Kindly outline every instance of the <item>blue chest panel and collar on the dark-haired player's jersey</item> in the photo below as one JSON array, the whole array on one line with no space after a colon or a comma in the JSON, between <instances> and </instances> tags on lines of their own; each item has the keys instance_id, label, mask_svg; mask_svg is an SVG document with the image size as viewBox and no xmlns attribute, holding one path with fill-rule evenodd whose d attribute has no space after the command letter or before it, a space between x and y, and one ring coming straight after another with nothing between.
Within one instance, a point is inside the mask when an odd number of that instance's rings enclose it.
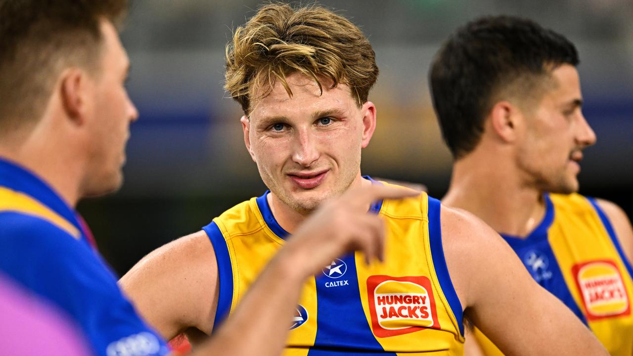
<instances>
[{"instance_id":1,"label":"blue chest panel and collar on the dark-haired player's jersey","mask_svg":"<svg viewBox=\"0 0 633 356\"><path fill-rule=\"evenodd\" d=\"M501 237L503 237L515 253L517 253L518 258L523 262L525 269L530 272L532 278L543 288L547 289L549 293L552 293L556 298L567 305L573 314L575 314L583 324L587 325L587 319L573 299L572 292L565 282L565 277L563 277L563 272L561 272L554 251L551 245L549 245L548 229L554 221L555 216L554 205L549 199L549 196L545 196L545 201L545 217L541 224L539 224L527 238L521 239L505 234L501 234ZM530 262L530 259L534 261ZM538 264L535 262L538 262Z\"/></svg>"}]
</instances>

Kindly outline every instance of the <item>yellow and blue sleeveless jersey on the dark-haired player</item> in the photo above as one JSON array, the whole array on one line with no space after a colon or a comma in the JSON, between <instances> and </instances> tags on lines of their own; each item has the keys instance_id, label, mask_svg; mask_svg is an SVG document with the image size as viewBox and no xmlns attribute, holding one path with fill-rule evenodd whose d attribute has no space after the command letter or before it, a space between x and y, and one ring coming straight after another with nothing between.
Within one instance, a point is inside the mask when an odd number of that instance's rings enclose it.
<instances>
[{"instance_id":1,"label":"yellow and blue sleeveless jersey on the dark-haired player","mask_svg":"<svg viewBox=\"0 0 633 356\"><path fill-rule=\"evenodd\" d=\"M545 217L527 238L501 236L611 355L633 355L633 270L611 223L592 198L545 194L544 201ZM486 355L502 355L480 331L475 336Z\"/></svg>"}]
</instances>

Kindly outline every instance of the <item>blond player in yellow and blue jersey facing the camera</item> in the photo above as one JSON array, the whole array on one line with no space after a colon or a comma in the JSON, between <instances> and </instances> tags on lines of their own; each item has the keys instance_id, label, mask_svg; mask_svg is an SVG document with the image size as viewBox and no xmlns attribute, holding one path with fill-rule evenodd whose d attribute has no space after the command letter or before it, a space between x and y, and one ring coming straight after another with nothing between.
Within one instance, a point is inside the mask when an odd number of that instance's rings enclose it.
<instances>
[{"instance_id":1,"label":"blond player in yellow and blue jersey facing the camera","mask_svg":"<svg viewBox=\"0 0 633 356\"><path fill-rule=\"evenodd\" d=\"M270 191L154 251L121 279L166 336L187 327L211 333L288 232L325 199L375 184L360 162L376 125L368 94L378 68L356 25L320 6L268 4L235 30L226 64L246 149ZM461 355L464 314L498 330L494 340L515 355L606 353L479 219L426 194L378 200L370 212L387 228L384 263L349 253L308 279L287 354ZM489 263L492 251L501 265ZM534 329L525 333L526 325Z\"/></svg>"}]
</instances>

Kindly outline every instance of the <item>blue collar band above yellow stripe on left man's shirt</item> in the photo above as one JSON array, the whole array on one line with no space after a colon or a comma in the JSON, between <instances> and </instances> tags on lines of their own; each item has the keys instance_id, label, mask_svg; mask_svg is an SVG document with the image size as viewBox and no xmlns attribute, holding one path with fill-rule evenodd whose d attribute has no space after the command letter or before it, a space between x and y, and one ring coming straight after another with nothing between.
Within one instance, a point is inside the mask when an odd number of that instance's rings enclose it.
<instances>
[{"instance_id":1,"label":"blue collar band above yellow stripe on left man's shirt","mask_svg":"<svg viewBox=\"0 0 633 356\"><path fill-rule=\"evenodd\" d=\"M79 224L74 210L68 207L68 204L60 198L53 188L27 169L0 158L0 186L31 196L68 220L83 235L84 229ZM82 236L82 240L85 240L84 236Z\"/></svg>"}]
</instances>

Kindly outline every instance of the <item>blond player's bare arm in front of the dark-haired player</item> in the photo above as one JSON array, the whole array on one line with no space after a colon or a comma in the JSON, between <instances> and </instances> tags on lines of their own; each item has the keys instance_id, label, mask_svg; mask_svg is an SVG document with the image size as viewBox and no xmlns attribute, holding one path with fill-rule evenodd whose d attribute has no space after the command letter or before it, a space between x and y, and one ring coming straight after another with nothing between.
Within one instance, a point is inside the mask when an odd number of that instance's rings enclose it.
<instances>
[{"instance_id":1,"label":"blond player's bare arm in front of the dark-haired player","mask_svg":"<svg viewBox=\"0 0 633 356\"><path fill-rule=\"evenodd\" d=\"M608 355L555 296L541 288L481 220L442 206L442 241L465 313L506 355Z\"/></svg>"}]
</instances>

